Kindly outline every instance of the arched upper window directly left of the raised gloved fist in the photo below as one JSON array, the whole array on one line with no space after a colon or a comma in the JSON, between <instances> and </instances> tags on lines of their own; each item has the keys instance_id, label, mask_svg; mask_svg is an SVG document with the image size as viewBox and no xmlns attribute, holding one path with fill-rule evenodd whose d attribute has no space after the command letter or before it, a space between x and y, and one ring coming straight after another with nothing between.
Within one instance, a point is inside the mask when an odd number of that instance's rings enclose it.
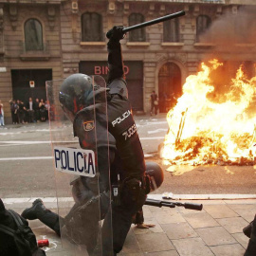
<instances>
[{"instance_id":1,"label":"arched upper window directly left of the raised gloved fist","mask_svg":"<svg viewBox=\"0 0 256 256\"><path fill-rule=\"evenodd\" d=\"M96 12L82 14L82 42L102 41L102 18Z\"/></svg>"}]
</instances>

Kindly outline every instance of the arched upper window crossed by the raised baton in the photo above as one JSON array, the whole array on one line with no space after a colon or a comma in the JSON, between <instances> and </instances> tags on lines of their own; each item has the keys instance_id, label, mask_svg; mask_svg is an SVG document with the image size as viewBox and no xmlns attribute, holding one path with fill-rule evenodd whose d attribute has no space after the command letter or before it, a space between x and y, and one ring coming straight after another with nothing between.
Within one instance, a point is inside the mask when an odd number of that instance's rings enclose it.
<instances>
[{"instance_id":1,"label":"arched upper window crossed by the raised baton","mask_svg":"<svg viewBox=\"0 0 256 256\"><path fill-rule=\"evenodd\" d=\"M144 22L144 16L140 13L132 13L129 16L129 27L137 25ZM129 41L130 42L145 42L146 33L145 27L135 29L129 32Z\"/></svg>"}]
</instances>

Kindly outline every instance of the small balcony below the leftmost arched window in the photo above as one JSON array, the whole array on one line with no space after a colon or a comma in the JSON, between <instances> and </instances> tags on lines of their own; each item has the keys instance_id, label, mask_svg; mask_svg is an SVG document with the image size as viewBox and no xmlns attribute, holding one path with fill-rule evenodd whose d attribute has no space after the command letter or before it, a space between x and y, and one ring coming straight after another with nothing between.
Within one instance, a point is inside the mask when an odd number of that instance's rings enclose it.
<instances>
[{"instance_id":1,"label":"small balcony below the leftmost arched window","mask_svg":"<svg viewBox=\"0 0 256 256\"><path fill-rule=\"evenodd\" d=\"M27 47L25 42L20 41L20 46L20 59L22 61L48 61L50 58L48 42L44 43L42 46L37 46L32 49L32 47Z\"/></svg>"}]
</instances>

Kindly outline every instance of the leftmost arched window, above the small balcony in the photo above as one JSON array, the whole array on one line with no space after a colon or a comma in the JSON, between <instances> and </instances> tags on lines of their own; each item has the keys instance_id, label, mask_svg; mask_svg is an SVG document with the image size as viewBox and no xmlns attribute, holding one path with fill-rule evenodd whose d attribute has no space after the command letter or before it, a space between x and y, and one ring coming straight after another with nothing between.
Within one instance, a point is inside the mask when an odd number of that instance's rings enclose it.
<instances>
[{"instance_id":1,"label":"leftmost arched window, above the small balcony","mask_svg":"<svg viewBox=\"0 0 256 256\"><path fill-rule=\"evenodd\" d=\"M24 25L26 50L43 50L43 29L36 19L29 19Z\"/></svg>"}]
</instances>

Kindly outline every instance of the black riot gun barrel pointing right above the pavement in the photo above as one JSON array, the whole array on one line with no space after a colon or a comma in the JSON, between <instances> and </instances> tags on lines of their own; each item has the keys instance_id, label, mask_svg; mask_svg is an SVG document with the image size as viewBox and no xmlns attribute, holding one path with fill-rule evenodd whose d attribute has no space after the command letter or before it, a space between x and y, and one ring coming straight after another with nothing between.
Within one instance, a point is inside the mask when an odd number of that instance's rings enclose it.
<instances>
[{"instance_id":1,"label":"black riot gun barrel pointing right above the pavement","mask_svg":"<svg viewBox=\"0 0 256 256\"><path fill-rule=\"evenodd\" d=\"M151 198L147 198L145 205L147 206L155 206L155 207L170 207L175 208L177 207L184 207L185 209L190 210L203 210L202 204L193 204L193 203L180 203L180 202L168 202L168 201L161 201L161 200L155 200Z\"/></svg>"}]
</instances>

